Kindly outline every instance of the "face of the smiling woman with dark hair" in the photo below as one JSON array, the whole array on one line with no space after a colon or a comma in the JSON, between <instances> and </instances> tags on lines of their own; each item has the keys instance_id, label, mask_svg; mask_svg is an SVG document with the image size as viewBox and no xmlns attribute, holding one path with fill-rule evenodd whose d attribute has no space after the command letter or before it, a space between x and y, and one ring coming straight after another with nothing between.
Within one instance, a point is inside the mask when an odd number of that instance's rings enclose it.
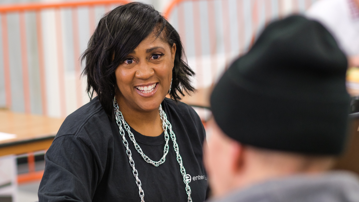
<instances>
[{"instance_id":1,"label":"face of the smiling woman with dark hair","mask_svg":"<svg viewBox=\"0 0 359 202\"><path fill-rule=\"evenodd\" d=\"M115 74L120 106L136 111L157 110L168 93L176 45L151 34L118 65Z\"/></svg>"}]
</instances>

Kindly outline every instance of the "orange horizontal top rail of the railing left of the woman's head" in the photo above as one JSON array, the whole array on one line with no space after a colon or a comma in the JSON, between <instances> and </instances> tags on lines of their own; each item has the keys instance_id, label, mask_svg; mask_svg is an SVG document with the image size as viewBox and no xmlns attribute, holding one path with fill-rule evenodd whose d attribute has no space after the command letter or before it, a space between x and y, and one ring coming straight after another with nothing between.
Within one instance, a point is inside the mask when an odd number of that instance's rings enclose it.
<instances>
[{"instance_id":1,"label":"orange horizontal top rail of the railing left of the woman's head","mask_svg":"<svg viewBox=\"0 0 359 202\"><path fill-rule=\"evenodd\" d=\"M104 5L104 4L127 4L130 1L126 0L95 0L95 1L71 1L59 3L31 3L31 4L11 4L0 6L0 12L19 12L28 10L53 9L64 7L90 6L90 5Z\"/></svg>"}]
</instances>

